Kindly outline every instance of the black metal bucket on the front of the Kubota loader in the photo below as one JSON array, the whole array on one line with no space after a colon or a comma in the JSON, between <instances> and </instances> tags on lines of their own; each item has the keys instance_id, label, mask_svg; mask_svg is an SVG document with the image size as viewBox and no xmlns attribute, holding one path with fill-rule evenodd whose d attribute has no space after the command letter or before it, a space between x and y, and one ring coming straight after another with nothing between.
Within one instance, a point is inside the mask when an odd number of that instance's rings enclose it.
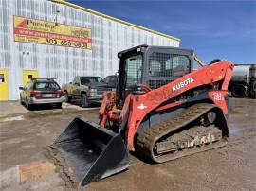
<instances>
[{"instance_id":1,"label":"black metal bucket on the front of the Kubota loader","mask_svg":"<svg viewBox=\"0 0 256 191\"><path fill-rule=\"evenodd\" d=\"M51 146L64 158L79 185L99 181L130 166L119 134L75 118Z\"/></svg>"}]
</instances>

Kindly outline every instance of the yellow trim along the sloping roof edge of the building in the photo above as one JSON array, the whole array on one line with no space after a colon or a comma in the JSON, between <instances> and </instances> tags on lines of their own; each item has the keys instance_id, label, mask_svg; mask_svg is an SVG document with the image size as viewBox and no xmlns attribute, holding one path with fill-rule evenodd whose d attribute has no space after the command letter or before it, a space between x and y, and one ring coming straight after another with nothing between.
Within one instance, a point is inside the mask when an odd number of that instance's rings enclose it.
<instances>
[{"instance_id":1,"label":"yellow trim along the sloping roof edge of the building","mask_svg":"<svg viewBox=\"0 0 256 191\"><path fill-rule=\"evenodd\" d=\"M176 37L174 37L174 36L170 36L170 35L167 35L167 34L164 34L164 33L161 33L161 32L157 32L157 31L152 30L152 29L147 28L147 27L137 26L137 25L135 25L135 24L132 24L132 23L129 23L129 22L126 22L126 21L122 21L122 20L120 20L120 19L118 19L118 18L115 18L115 17L109 16L109 15L103 14L103 13L98 12L98 11L96 11L96 10L83 8L83 7L81 7L81 6L72 4L72 3L67 2L67 1L64 1L64 0L52 0L52 1L55 2L55 3L60 3L60 4L63 4L63 5L65 5L65 6L69 6L69 7L75 8L75 9L81 9L81 10L83 10L83 11L90 12L90 13L92 13L92 14L96 14L96 15L101 16L101 17L103 17L103 18L106 18L106 19L109 19L109 20L112 20L112 21L116 21L116 22L119 22L119 23L124 24L124 25L127 25L127 26L137 27L137 28L139 28L139 29L142 29L142 30L145 30L145 31L154 33L154 34L156 34L156 35L159 35L159 36L162 36L162 37L166 37L166 38L168 38L168 39L173 39L173 40L178 41L178 42L181 41L181 39L176 38Z\"/></svg>"}]
</instances>

